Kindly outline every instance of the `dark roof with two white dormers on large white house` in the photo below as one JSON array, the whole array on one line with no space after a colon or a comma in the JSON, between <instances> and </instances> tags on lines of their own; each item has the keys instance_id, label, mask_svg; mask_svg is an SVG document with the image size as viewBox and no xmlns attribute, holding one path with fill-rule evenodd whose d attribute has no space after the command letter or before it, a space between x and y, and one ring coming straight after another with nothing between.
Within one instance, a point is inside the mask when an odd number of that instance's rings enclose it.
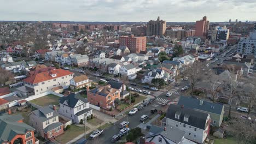
<instances>
[{"instance_id":1,"label":"dark roof with two white dormers on large white house","mask_svg":"<svg viewBox=\"0 0 256 144\"><path fill-rule=\"evenodd\" d=\"M181 113L179 116L179 119L175 118L176 112ZM184 116L189 115L189 121L184 121ZM191 125L193 127L199 128L199 129L205 129L207 127L207 120L208 114L200 111L196 111L193 109L188 108L182 108L179 105L170 105L168 107L168 110L166 112L166 118L172 119L173 121L181 122L184 124Z\"/></svg>"}]
</instances>

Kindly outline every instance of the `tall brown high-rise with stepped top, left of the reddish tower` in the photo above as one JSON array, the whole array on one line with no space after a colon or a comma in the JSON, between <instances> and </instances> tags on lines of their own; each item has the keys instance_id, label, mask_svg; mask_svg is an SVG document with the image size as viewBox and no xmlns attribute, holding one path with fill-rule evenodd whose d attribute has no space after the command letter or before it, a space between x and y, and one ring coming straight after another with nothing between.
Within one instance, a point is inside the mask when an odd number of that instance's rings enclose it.
<instances>
[{"instance_id":1,"label":"tall brown high-rise with stepped top, left of the reddish tower","mask_svg":"<svg viewBox=\"0 0 256 144\"><path fill-rule=\"evenodd\" d=\"M147 35L165 35L166 21L160 20L160 17L156 21L150 20L147 25Z\"/></svg>"}]
</instances>

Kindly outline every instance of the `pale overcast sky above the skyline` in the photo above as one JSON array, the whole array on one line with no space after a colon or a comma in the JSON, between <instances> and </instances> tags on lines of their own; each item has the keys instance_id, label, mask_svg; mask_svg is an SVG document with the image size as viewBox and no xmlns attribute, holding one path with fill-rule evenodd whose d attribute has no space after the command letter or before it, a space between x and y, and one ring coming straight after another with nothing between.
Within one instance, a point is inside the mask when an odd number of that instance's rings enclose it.
<instances>
[{"instance_id":1,"label":"pale overcast sky above the skyline","mask_svg":"<svg viewBox=\"0 0 256 144\"><path fill-rule=\"evenodd\" d=\"M256 21L256 0L1 0L0 20Z\"/></svg>"}]
</instances>

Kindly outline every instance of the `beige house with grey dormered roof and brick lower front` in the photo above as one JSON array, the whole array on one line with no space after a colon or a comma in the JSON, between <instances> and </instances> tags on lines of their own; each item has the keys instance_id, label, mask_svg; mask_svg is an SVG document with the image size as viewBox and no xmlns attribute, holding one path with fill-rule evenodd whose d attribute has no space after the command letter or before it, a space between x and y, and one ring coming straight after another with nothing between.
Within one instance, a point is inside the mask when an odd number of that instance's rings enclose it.
<instances>
[{"instance_id":1,"label":"beige house with grey dormered roof and brick lower front","mask_svg":"<svg viewBox=\"0 0 256 144\"><path fill-rule=\"evenodd\" d=\"M49 105L32 111L28 117L29 123L36 128L40 136L50 139L64 133L63 123L59 122L56 106Z\"/></svg>"}]
</instances>

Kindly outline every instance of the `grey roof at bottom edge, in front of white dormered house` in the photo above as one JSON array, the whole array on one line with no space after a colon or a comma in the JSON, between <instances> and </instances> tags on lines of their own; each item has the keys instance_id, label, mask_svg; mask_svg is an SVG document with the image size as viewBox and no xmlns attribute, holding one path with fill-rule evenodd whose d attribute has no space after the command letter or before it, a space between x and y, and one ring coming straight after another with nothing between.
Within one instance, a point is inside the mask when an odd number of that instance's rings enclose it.
<instances>
[{"instance_id":1,"label":"grey roof at bottom edge, in front of white dormered house","mask_svg":"<svg viewBox=\"0 0 256 144\"><path fill-rule=\"evenodd\" d=\"M164 130L165 128L166 130ZM171 140L174 143L179 143L183 140L185 131L179 130L175 127L171 127L170 125L166 125L165 128L152 125L146 138L148 139L149 137L161 135L162 137L164 137L165 141Z\"/></svg>"}]
</instances>

